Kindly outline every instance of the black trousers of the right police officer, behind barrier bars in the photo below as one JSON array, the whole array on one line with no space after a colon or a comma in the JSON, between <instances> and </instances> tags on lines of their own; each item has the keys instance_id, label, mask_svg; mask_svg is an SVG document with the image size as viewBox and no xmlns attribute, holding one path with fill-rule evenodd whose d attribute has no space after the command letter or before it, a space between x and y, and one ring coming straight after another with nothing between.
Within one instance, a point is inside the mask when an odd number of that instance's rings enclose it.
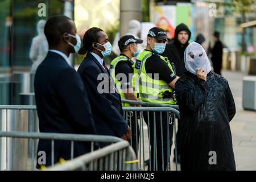
<instances>
[{"instance_id":1,"label":"black trousers of the right police officer, behind barrier bars","mask_svg":"<svg viewBox=\"0 0 256 182\"><path fill-rule=\"evenodd\" d=\"M152 111L143 112L143 117L147 123L148 137L150 138L150 163L148 170L165 171L171 156L174 117L168 112L163 111L155 112L155 119L154 112Z\"/></svg>"}]
</instances>

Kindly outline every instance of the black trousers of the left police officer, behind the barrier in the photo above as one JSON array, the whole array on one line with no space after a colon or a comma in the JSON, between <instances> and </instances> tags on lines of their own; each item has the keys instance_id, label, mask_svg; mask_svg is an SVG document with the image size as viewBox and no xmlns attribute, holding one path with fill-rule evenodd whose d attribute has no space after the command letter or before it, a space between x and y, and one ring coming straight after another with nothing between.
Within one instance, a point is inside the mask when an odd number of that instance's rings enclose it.
<instances>
[{"instance_id":1,"label":"black trousers of the left police officer, behind the barrier","mask_svg":"<svg viewBox=\"0 0 256 182\"><path fill-rule=\"evenodd\" d=\"M125 119L131 128L131 138L129 142L135 154L138 156L140 130L137 117L139 117L139 112L125 112Z\"/></svg>"}]
</instances>

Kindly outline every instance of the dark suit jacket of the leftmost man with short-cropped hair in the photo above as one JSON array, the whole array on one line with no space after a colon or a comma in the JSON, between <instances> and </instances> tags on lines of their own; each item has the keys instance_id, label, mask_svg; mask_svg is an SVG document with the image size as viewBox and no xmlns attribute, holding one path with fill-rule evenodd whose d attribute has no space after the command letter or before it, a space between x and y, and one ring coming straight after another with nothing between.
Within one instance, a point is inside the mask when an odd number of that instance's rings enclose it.
<instances>
[{"instance_id":1,"label":"dark suit jacket of the leftmost man with short-cropped hair","mask_svg":"<svg viewBox=\"0 0 256 182\"><path fill-rule=\"evenodd\" d=\"M40 132L95 134L84 84L62 56L48 52L36 70L34 87ZM51 165L51 141L39 140L38 151L46 152L46 166ZM88 143L74 143L74 157L88 151ZM71 142L56 140L54 152L55 162L70 159Z\"/></svg>"}]
</instances>

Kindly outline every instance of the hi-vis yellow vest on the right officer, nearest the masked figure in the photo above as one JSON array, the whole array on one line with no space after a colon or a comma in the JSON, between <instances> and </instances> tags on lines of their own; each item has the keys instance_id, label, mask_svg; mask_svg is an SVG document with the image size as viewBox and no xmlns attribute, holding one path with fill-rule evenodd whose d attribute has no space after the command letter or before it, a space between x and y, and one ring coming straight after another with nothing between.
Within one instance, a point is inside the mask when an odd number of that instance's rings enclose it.
<instances>
[{"instance_id":1,"label":"hi-vis yellow vest on the right officer, nearest the masked figure","mask_svg":"<svg viewBox=\"0 0 256 182\"><path fill-rule=\"evenodd\" d=\"M138 80L139 82L139 94L141 100L158 104L176 104L174 89L172 89L167 82L152 79L152 76L150 77L147 75L145 63L150 56L152 56L152 52L144 50L137 57L135 64L134 76L135 80ZM174 72L174 69L172 69L167 57L158 56L162 61L166 62L171 71ZM156 78L158 75L154 76L154 78Z\"/></svg>"}]
</instances>

